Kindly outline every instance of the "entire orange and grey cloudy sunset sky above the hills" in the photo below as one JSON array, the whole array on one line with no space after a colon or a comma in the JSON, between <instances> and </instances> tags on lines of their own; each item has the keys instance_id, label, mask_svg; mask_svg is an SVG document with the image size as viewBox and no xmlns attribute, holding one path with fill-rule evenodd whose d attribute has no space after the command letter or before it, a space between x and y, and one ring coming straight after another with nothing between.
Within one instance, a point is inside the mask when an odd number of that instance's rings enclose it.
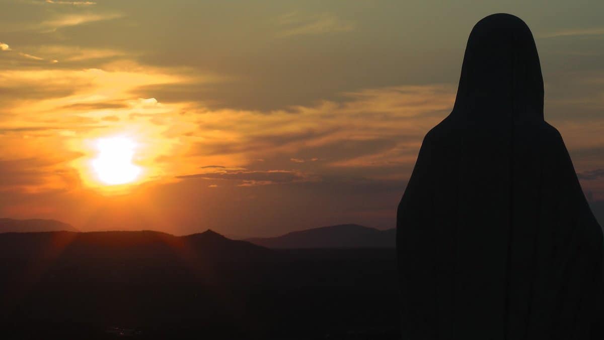
<instances>
[{"instance_id":1,"label":"entire orange and grey cloudy sunset sky above the hills","mask_svg":"<svg viewBox=\"0 0 604 340\"><path fill-rule=\"evenodd\" d=\"M394 227L470 30L497 12L533 31L545 119L602 215L604 2L475 2L0 0L0 217Z\"/></svg>"}]
</instances>

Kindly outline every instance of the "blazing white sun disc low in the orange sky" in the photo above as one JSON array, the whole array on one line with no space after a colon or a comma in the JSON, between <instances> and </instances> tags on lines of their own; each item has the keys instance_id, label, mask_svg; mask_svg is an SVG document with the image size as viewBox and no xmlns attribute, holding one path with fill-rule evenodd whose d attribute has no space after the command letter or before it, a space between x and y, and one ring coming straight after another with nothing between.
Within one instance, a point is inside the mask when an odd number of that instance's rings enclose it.
<instances>
[{"instance_id":1,"label":"blazing white sun disc low in the orange sky","mask_svg":"<svg viewBox=\"0 0 604 340\"><path fill-rule=\"evenodd\" d=\"M121 185L137 179L141 167L132 163L135 142L126 137L109 137L98 139L95 145L98 155L92 160L92 169L100 181Z\"/></svg>"}]
</instances>

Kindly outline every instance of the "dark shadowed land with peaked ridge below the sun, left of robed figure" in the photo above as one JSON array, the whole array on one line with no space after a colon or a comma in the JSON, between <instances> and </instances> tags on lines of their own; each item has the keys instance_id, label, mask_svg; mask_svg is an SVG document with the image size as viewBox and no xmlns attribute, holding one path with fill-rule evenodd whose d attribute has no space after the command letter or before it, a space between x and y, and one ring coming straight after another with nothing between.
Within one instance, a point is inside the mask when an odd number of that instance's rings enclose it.
<instances>
[{"instance_id":1,"label":"dark shadowed land with peaked ridge below the sun, left of robed figure","mask_svg":"<svg viewBox=\"0 0 604 340\"><path fill-rule=\"evenodd\" d=\"M397 338L394 249L45 232L0 234L0 258L2 338Z\"/></svg>"}]
</instances>

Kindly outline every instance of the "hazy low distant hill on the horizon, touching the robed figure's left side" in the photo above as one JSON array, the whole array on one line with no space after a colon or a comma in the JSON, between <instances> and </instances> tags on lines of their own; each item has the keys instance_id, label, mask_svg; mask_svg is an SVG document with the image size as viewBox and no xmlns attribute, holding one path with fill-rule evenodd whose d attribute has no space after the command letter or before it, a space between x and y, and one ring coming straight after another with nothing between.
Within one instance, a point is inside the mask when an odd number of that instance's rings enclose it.
<instances>
[{"instance_id":1,"label":"hazy low distant hill on the horizon, touching the robed figure's left side","mask_svg":"<svg viewBox=\"0 0 604 340\"><path fill-rule=\"evenodd\" d=\"M339 224L290 232L279 237L248 238L246 241L274 249L394 248L396 230Z\"/></svg>"}]
</instances>

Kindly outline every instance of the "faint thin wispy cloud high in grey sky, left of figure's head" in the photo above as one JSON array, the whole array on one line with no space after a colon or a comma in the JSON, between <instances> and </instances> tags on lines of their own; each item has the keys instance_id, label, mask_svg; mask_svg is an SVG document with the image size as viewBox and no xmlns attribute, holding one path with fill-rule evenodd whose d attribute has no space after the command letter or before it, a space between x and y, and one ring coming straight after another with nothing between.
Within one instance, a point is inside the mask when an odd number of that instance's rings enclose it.
<instances>
[{"instance_id":1,"label":"faint thin wispy cloud high in grey sky, left of figure's head","mask_svg":"<svg viewBox=\"0 0 604 340\"><path fill-rule=\"evenodd\" d=\"M288 13L278 18L277 22L284 28L278 33L280 37L342 33L355 28L352 22L342 20L329 13L311 16Z\"/></svg>"}]
</instances>

